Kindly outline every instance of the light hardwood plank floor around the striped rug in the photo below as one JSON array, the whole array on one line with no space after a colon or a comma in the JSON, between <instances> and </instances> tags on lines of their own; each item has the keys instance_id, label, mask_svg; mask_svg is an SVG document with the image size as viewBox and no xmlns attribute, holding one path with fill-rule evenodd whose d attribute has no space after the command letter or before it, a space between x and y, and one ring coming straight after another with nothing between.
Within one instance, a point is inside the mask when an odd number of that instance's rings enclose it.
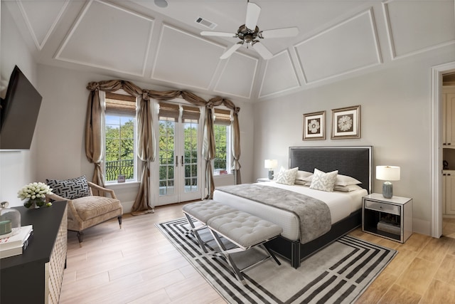
<instances>
[{"instance_id":1,"label":"light hardwood plank floor around the striped rug","mask_svg":"<svg viewBox=\"0 0 455 304\"><path fill-rule=\"evenodd\" d=\"M116 219L87 229L82 248L69 231L60 303L225 303L154 226L182 217L181 207L125 214L122 229ZM455 221L444 226L455 236ZM455 303L455 239L350 234L399 252L357 303Z\"/></svg>"}]
</instances>

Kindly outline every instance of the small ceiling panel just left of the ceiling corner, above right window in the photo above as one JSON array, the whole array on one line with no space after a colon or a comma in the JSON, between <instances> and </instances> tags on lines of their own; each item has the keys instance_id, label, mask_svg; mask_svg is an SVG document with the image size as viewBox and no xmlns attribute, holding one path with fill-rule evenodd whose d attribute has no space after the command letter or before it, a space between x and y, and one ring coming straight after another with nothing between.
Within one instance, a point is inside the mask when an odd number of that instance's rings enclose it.
<instances>
[{"instance_id":1,"label":"small ceiling panel just left of the ceiling corner, above right window","mask_svg":"<svg viewBox=\"0 0 455 304\"><path fill-rule=\"evenodd\" d=\"M259 60L241 53L234 53L221 73L215 92L251 98Z\"/></svg>"}]
</instances>

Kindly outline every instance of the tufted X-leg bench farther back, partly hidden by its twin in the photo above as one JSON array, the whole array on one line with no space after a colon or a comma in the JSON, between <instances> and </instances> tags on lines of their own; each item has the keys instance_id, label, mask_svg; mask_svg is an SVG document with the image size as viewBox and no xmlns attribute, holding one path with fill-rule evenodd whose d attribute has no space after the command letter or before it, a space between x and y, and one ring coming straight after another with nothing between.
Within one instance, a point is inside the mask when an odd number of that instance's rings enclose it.
<instances>
[{"instance_id":1,"label":"tufted X-leg bench farther back, partly hidden by its twin","mask_svg":"<svg viewBox=\"0 0 455 304\"><path fill-rule=\"evenodd\" d=\"M208 251L207 248L205 248L204 241L200 238L198 231L206 227L209 219L221 214L236 211L236 209L232 209L231 207L220 204L212 199L186 204L183 206L182 210L188 220L188 224L191 226L191 232L196 236L200 248L202 248L205 253ZM195 224L191 218L196 219L198 223Z\"/></svg>"}]
</instances>

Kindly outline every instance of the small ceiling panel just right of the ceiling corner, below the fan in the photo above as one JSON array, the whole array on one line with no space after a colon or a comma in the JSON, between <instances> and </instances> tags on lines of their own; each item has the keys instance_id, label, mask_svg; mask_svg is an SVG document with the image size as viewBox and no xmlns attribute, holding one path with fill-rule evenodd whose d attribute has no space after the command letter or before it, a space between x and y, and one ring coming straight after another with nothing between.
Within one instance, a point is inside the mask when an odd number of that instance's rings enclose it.
<instances>
[{"instance_id":1,"label":"small ceiling panel just right of the ceiling corner, below the fan","mask_svg":"<svg viewBox=\"0 0 455 304\"><path fill-rule=\"evenodd\" d=\"M289 51L282 51L267 61L259 98L299 88L299 85Z\"/></svg>"}]
</instances>

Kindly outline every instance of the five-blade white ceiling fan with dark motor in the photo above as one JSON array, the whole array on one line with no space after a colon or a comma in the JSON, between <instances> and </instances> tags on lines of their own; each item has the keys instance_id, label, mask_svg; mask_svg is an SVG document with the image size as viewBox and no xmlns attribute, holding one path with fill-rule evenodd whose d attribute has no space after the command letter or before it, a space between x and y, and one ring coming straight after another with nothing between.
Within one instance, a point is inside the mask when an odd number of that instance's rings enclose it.
<instances>
[{"instance_id":1,"label":"five-blade white ceiling fan with dark motor","mask_svg":"<svg viewBox=\"0 0 455 304\"><path fill-rule=\"evenodd\" d=\"M200 35L202 36L220 36L220 37L233 37L240 38L240 42L235 43L233 46L228 48L228 51L225 51L223 55L220 56L220 59L228 58L235 51L237 51L240 46L244 43L247 43L247 47L251 46L257 53L259 53L262 58L265 60L272 58L273 54L259 41L263 38L281 38L281 37L291 37L299 34L299 28L275 28L267 31L259 31L257 27L257 20L259 19L259 13L261 8L250 1L247 3L247 19L245 24L241 25L237 30L237 33L225 33L225 32L216 32L216 31L202 31Z\"/></svg>"}]
</instances>

